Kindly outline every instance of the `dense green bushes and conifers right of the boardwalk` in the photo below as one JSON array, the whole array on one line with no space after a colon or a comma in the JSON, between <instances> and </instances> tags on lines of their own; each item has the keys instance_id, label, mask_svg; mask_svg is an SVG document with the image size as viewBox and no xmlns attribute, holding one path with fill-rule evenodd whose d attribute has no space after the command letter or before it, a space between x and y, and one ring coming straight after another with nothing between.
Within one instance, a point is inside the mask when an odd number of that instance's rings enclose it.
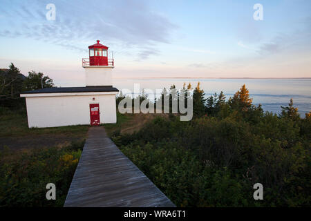
<instances>
[{"instance_id":1,"label":"dense green bushes and conifers right of the boardwalk","mask_svg":"<svg viewBox=\"0 0 311 221\"><path fill-rule=\"evenodd\" d=\"M112 134L176 206L310 206L310 113L302 119L292 99L280 115L264 112L245 85L226 100L206 99L198 84L193 101L190 122L170 114ZM253 198L256 183L263 200Z\"/></svg>"}]
</instances>

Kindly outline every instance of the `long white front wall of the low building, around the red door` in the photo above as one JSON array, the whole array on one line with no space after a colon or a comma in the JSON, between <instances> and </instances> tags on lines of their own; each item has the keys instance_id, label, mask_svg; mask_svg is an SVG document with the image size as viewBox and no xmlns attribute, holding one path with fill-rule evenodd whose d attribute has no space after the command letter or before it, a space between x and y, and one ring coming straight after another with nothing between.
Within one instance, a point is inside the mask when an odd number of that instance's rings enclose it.
<instances>
[{"instance_id":1,"label":"long white front wall of the low building, around the red door","mask_svg":"<svg viewBox=\"0 0 311 221\"><path fill-rule=\"evenodd\" d=\"M90 124L90 104L100 104L101 124L116 123L115 94L22 97L26 97L28 126L31 128Z\"/></svg>"}]
</instances>

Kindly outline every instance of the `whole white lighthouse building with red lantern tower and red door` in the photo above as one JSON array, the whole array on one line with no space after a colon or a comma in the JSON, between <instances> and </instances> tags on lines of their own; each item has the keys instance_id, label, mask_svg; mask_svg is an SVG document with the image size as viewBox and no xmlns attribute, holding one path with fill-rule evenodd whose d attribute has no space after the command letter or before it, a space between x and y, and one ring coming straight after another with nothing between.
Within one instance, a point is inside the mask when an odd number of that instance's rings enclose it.
<instances>
[{"instance_id":1,"label":"whole white lighthouse building with red lantern tower and red door","mask_svg":"<svg viewBox=\"0 0 311 221\"><path fill-rule=\"evenodd\" d=\"M89 46L89 58L82 59L85 87L43 88L21 94L26 97L29 128L117 122L115 96L119 90L111 80L114 61L108 59L108 47L99 42Z\"/></svg>"}]
</instances>

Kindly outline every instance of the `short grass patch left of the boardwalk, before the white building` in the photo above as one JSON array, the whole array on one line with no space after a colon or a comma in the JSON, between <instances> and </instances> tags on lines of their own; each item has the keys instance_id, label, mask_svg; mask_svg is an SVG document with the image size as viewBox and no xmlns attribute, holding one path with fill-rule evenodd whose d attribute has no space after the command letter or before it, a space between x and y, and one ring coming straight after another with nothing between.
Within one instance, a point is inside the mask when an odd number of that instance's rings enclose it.
<instances>
[{"instance_id":1,"label":"short grass patch left of the boardwalk, before the white building","mask_svg":"<svg viewBox=\"0 0 311 221\"><path fill-rule=\"evenodd\" d=\"M88 125L28 128L26 108L10 111L0 108L0 150L29 151L34 148L64 147L82 142Z\"/></svg>"}]
</instances>

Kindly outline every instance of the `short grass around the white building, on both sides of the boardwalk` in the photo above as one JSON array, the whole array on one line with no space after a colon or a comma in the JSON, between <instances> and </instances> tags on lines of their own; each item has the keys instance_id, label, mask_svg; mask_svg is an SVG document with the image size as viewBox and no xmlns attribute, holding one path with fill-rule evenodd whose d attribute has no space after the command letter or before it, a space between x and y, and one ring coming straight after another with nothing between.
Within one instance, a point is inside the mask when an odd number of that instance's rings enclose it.
<instances>
[{"instance_id":1,"label":"short grass around the white building, on both sides of the boardwalk","mask_svg":"<svg viewBox=\"0 0 311 221\"><path fill-rule=\"evenodd\" d=\"M102 124L111 136L115 131L133 133L147 122L151 115L117 113L116 124ZM26 108L10 111L0 107L0 150L28 150L53 146L68 146L87 137L89 125L28 128Z\"/></svg>"}]
</instances>

